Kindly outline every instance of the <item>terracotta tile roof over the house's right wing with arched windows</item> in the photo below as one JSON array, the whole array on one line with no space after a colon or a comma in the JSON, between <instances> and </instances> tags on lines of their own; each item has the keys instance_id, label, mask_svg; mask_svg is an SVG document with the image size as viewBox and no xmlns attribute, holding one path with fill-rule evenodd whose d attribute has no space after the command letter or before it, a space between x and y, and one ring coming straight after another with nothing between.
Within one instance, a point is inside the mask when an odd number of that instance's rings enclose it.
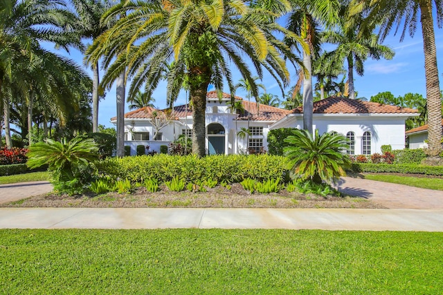
<instances>
[{"instance_id":1,"label":"terracotta tile roof over the house's right wing with arched windows","mask_svg":"<svg viewBox=\"0 0 443 295\"><path fill-rule=\"evenodd\" d=\"M294 108L292 113L302 113L302 107ZM328 97L314 102L314 113L318 114L360 114L360 113L418 113L413 108L401 108L378 102L363 102L346 97Z\"/></svg>"}]
</instances>

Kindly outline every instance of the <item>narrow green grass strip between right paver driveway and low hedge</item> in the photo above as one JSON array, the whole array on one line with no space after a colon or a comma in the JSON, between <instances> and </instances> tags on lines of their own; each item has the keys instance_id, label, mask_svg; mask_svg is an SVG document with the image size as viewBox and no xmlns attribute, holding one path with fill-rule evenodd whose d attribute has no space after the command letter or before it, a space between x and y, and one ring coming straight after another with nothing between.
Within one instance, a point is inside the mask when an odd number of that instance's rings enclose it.
<instances>
[{"instance_id":1,"label":"narrow green grass strip between right paver driveway and low hedge","mask_svg":"<svg viewBox=\"0 0 443 295\"><path fill-rule=\"evenodd\" d=\"M365 179L378 180L383 182L391 182L398 184L405 184L410 187L421 187L422 189L435 189L443 191L442 178L417 178L412 176L399 175L380 175L380 174L365 174Z\"/></svg>"}]
</instances>

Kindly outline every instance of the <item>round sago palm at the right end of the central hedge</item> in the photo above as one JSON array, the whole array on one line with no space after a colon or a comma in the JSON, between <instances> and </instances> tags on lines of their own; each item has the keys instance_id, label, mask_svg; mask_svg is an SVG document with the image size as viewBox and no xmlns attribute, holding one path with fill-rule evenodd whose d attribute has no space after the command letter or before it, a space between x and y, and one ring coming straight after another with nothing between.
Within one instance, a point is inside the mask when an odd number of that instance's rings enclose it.
<instances>
[{"instance_id":1,"label":"round sago palm at the right end of the central hedge","mask_svg":"<svg viewBox=\"0 0 443 295\"><path fill-rule=\"evenodd\" d=\"M289 158L290 169L302 180L315 183L335 181L345 175L343 166L350 164L345 155L347 140L343 135L323 133L315 137L306 130L296 130L284 142L289 146L284 153Z\"/></svg>"}]
</instances>

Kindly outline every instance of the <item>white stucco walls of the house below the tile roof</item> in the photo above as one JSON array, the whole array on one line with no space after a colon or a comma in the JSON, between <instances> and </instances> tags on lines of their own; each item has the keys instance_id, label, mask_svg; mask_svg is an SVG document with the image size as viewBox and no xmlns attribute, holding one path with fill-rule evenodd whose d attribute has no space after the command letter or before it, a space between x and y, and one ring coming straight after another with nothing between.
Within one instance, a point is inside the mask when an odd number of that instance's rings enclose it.
<instances>
[{"instance_id":1,"label":"white stucco walls of the house below the tile roof","mask_svg":"<svg viewBox=\"0 0 443 295\"><path fill-rule=\"evenodd\" d=\"M248 121L236 120L239 115L231 113L228 102L230 99L207 99L206 104L206 153L238 154L246 153L252 146L268 150L267 135L272 129L302 128L302 113L284 113L279 120L251 120L250 131L255 134L242 139L238 133L248 127ZM260 108L259 108L260 110ZM278 109L277 109L278 110ZM260 111L257 111L260 113ZM314 113L313 129L320 134L335 131L343 135L354 134L354 155L381 153L381 146L390 144L392 149L405 148L405 120L410 114L402 113L345 113L325 114ZM260 117L259 117L260 119ZM138 144L149 145L151 150L160 151L161 145L168 145L192 129L192 114L181 114L174 122L163 127L161 140L154 140L155 129L147 118L125 118L125 145L131 146L132 155L136 153ZM140 140L138 133L143 133ZM365 136L363 136L365 135ZM148 137L149 136L149 137ZM366 145L363 149L363 137ZM369 140L368 140L369 138ZM138 139L138 140L136 140Z\"/></svg>"}]
</instances>

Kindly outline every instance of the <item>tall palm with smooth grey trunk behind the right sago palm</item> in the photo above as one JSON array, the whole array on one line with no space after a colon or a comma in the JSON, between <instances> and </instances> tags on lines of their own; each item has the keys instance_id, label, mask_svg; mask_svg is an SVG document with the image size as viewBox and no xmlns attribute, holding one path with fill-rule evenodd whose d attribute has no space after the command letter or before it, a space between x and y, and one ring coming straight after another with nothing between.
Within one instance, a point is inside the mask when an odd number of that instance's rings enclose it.
<instances>
[{"instance_id":1,"label":"tall palm with smooth grey trunk behind the right sago palm","mask_svg":"<svg viewBox=\"0 0 443 295\"><path fill-rule=\"evenodd\" d=\"M312 114L314 109L312 95L312 57L320 50L320 23L329 27L338 21L338 0L309 1L293 0L293 11L289 16L287 28L300 35L309 45L308 50L300 50L297 44L290 40L287 43L303 57L303 129L312 133Z\"/></svg>"}]
</instances>

